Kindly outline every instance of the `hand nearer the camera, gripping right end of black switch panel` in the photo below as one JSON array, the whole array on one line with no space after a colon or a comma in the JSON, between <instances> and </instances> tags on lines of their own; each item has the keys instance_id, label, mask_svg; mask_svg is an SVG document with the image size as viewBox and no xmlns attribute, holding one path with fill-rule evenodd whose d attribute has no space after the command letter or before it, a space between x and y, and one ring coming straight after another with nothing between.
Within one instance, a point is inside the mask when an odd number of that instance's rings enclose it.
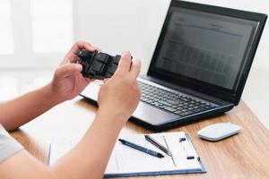
<instances>
[{"instance_id":1,"label":"hand nearer the camera, gripping right end of black switch panel","mask_svg":"<svg viewBox=\"0 0 269 179\"><path fill-rule=\"evenodd\" d=\"M114 75L104 81L100 88L98 104L100 111L116 115L126 122L134 113L141 92L136 78L141 69L140 60L131 60L129 52L123 52Z\"/></svg>"}]
</instances>

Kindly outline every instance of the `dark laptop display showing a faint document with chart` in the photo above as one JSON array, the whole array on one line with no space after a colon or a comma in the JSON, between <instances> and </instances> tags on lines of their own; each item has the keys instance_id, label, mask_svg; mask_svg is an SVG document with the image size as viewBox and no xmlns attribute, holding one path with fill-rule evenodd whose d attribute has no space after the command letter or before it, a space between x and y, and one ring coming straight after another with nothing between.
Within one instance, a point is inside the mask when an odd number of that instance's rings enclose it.
<instances>
[{"instance_id":1,"label":"dark laptop display showing a faint document with chart","mask_svg":"<svg viewBox=\"0 0 269 179\"><path fill-rule=\"evenodd\" d=\"M156 69L236 90L258 21L171 7Z\"/></svg>"}]
</instances>

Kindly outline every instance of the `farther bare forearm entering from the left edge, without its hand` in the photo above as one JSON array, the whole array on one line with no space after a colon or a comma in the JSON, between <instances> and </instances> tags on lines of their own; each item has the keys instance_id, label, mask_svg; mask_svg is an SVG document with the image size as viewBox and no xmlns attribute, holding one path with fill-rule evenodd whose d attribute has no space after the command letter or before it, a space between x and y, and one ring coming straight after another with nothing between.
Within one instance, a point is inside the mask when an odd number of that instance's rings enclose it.
<instances>
[{"instance_id":1,"label":"farther bare forearm entering from the left edge, without its hand","mask_svg":"<svg viewBox=\"0 0 269 179\"><path fill-rule=\"evenodd\" d=\"M8 131L14 130L59 102L53 96L49 85L33 90L21 97L0 103L0 124Z\"/></svg>"}]
</instances>

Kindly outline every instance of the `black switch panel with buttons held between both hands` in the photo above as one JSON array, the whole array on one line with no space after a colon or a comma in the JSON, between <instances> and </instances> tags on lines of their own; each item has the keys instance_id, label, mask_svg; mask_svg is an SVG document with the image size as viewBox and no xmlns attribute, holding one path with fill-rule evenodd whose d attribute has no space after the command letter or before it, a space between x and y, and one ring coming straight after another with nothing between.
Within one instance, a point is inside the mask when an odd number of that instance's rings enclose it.
<instances>
[{"instance_id":1,"label":"black switch panel with buttons held between both hands","mask_svg":"<svg viewBox=\"0 0 269 179\"><path fill-rule=\"evenodd\" d=\"M103 80L110 78L117 70L121 55L108 55L102 52L82 49L78 54L77 64L82 64L82 75L86 78Z\"/></svg>"}]
</instances>

